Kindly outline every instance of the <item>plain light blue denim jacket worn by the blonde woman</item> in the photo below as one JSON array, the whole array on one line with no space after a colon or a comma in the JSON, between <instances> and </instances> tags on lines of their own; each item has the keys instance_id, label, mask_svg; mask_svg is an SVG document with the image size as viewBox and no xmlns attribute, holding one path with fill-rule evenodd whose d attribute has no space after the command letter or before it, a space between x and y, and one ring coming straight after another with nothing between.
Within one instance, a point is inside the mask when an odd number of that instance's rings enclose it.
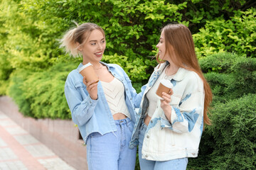
<instances>
[{"instance_id":1,"label":"plain light blue denim jacket worn by the blonde woman","mask_svg":"<svg viewBox=\"0 0 256 170\"><path fill-rule=\"evenodd\" d=\"M143 93L137 94L132 87L131 80L122 67L119 67L117 64L101 63L106 65L109 72L124 84L125 103L131 114L131 120L135 123L135 107L139 107ZM80 67L82 67L82 63L79 64L77 69L68 74L68 78L65 81L65 97L71 111L72 120L78 125L82 139L86 143L88 135L92 132L99 132L101 135L104 135L107 132L116 131L117 128L107 104L101 82L99 81L97 85L98 98L97 100L92 100L85 84L82 82L82 75L78 72Z\"/></svg>"}]
</instances>

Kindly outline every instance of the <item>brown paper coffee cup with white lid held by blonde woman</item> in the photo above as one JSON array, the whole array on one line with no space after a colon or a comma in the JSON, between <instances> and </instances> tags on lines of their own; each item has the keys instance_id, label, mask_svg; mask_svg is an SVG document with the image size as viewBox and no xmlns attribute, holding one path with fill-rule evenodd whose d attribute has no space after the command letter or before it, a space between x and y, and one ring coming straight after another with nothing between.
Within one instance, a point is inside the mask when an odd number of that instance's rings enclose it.
<instances>
[{"instance_id":1,"label":"brown paper coffee cup with white lid held by blonde woman","mask_svg":"<svg viewBox=\"0 0 256 170\"><path fill-rule=\"evenodd\" d=\"M97 77L97 74L95 73L92 64L88 62L87 64L83 65L79 69L79 73L82 75L82 77L85 77L85 80L87 82L95 80L96 83L99 81L99 78Z\"/></svg>"}]
</instances>

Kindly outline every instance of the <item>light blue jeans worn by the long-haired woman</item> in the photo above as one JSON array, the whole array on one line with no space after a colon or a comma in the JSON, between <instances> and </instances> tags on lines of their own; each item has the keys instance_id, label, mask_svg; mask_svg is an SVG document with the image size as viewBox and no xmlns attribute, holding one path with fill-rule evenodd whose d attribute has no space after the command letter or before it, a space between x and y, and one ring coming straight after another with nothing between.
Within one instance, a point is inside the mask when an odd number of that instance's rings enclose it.
<instances>
[{"instance_id":1,"label":"light blue jeans worn by the long-haired woman","mask_svg":"<svg viewBox=\"0 0 256 170\"><path fill-rule=\"evenodd\" d=\"M142 159L142 145L145 132L146 125L142 121L142 125L139 128L139 166L141 170L186 170L188 158L173 159L165 162Z\"/></svg>"}]
</instances>

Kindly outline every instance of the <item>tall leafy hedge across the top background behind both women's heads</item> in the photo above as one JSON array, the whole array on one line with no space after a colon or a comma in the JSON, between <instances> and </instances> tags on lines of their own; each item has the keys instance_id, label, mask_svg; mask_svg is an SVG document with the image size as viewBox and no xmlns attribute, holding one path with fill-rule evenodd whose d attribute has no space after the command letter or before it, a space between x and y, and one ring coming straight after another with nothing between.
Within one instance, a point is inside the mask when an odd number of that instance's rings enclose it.
<instances>
[{"instance_id":1,"label":"tall leafy hedge across the top background behind both women's heads","mask_svg":"<svg viewBox=\"0 0 256 170\"><path fill-rule=\"evenodd\" d=\"M206 6L206 4L208 5ZM104 7L102 8L102 6ZM238 32L242 33L242 38L245 38L247 34L244 42L249 43L252 38L255 38L253 32L255 30L253 20L255 9L246 11L250 6L252 6L250 3L241 0L0 1L0 23L3 26L0 30L0 47L4 47L8 61L11 61L11 69L26 68L32 69L32 71L46 69L59 58L66 58L63 51L58 49L58 39L62 37L65 30L75 26L72 23L75 20L78 23L94 22L105 29L106 55L117 53L120 56L127 56L129 62L138 57L146 61L150 56L156 54L159 29L166 23L174 21L184 23L191 28L192 33L198 33L198 30L205 26L206 21L215 21L215 18L228 21L233 17L235 26L238 25L238 31L233 30L233 32L235 35ZM239 12L240 9L245 12ZM242 21L240 21L241 18ZM247 29L243 30L242 26L247 26ZM252 34L250 35L250 33ZM231 36L233 33L229 35ZM204 38L201 36L202 40ZM224 35L223 38L225 38ZM225 38L225 40L232 42L229 38L233 37ZM243 40L242 38L240 39ZM215 41L220 40L215 39ZM216 43L217 45L221 44L220 42ZM237 48L230 50L249 52L253 55L253 43L252 47L245 45L243 50ZM197 46L201 46L201 43L198 43ZM202 53L208 50L203 47L200 49ZM154 65L153 63L140 63L148 66L149 69L145 70L147 74L152 72L150 66Z\"/></svg>"}]
</instances>

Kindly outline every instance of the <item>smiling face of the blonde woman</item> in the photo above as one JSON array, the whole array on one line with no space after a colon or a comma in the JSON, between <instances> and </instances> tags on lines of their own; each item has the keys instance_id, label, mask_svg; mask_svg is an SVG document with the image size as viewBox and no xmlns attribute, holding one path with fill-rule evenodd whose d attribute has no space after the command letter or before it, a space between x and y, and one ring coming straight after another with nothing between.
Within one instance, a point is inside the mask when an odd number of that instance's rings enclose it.
<instances>
[{"instance_id":1,"label":"smiling face of the blonde woman","mask_svg":"<svg viewBox=\"0 0 256 170\"><path fill-rule=\"evenodd\" d=\"M89 38L79 48L82 52L83 60L91 63L100 62L106 48L105 36L100 30L92 30Z\"/></svg>"}]
</instances>

